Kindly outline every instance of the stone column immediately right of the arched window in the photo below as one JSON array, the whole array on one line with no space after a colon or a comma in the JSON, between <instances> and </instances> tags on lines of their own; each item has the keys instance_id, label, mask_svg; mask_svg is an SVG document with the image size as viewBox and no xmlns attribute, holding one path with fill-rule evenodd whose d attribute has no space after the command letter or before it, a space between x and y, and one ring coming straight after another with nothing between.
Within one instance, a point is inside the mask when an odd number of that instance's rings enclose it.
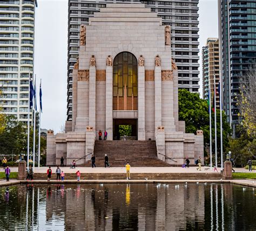
<instances>
[{"instance_id":1,"label":"stone column immediately right of the arched window","mask_svg":"<svg viewBox=\"0 0 256 231\"><path fill-rule=\"evenodd\" d=\"M145 141L145 67L138 72L138 141Z\"/></svg>"}]
</instances>

